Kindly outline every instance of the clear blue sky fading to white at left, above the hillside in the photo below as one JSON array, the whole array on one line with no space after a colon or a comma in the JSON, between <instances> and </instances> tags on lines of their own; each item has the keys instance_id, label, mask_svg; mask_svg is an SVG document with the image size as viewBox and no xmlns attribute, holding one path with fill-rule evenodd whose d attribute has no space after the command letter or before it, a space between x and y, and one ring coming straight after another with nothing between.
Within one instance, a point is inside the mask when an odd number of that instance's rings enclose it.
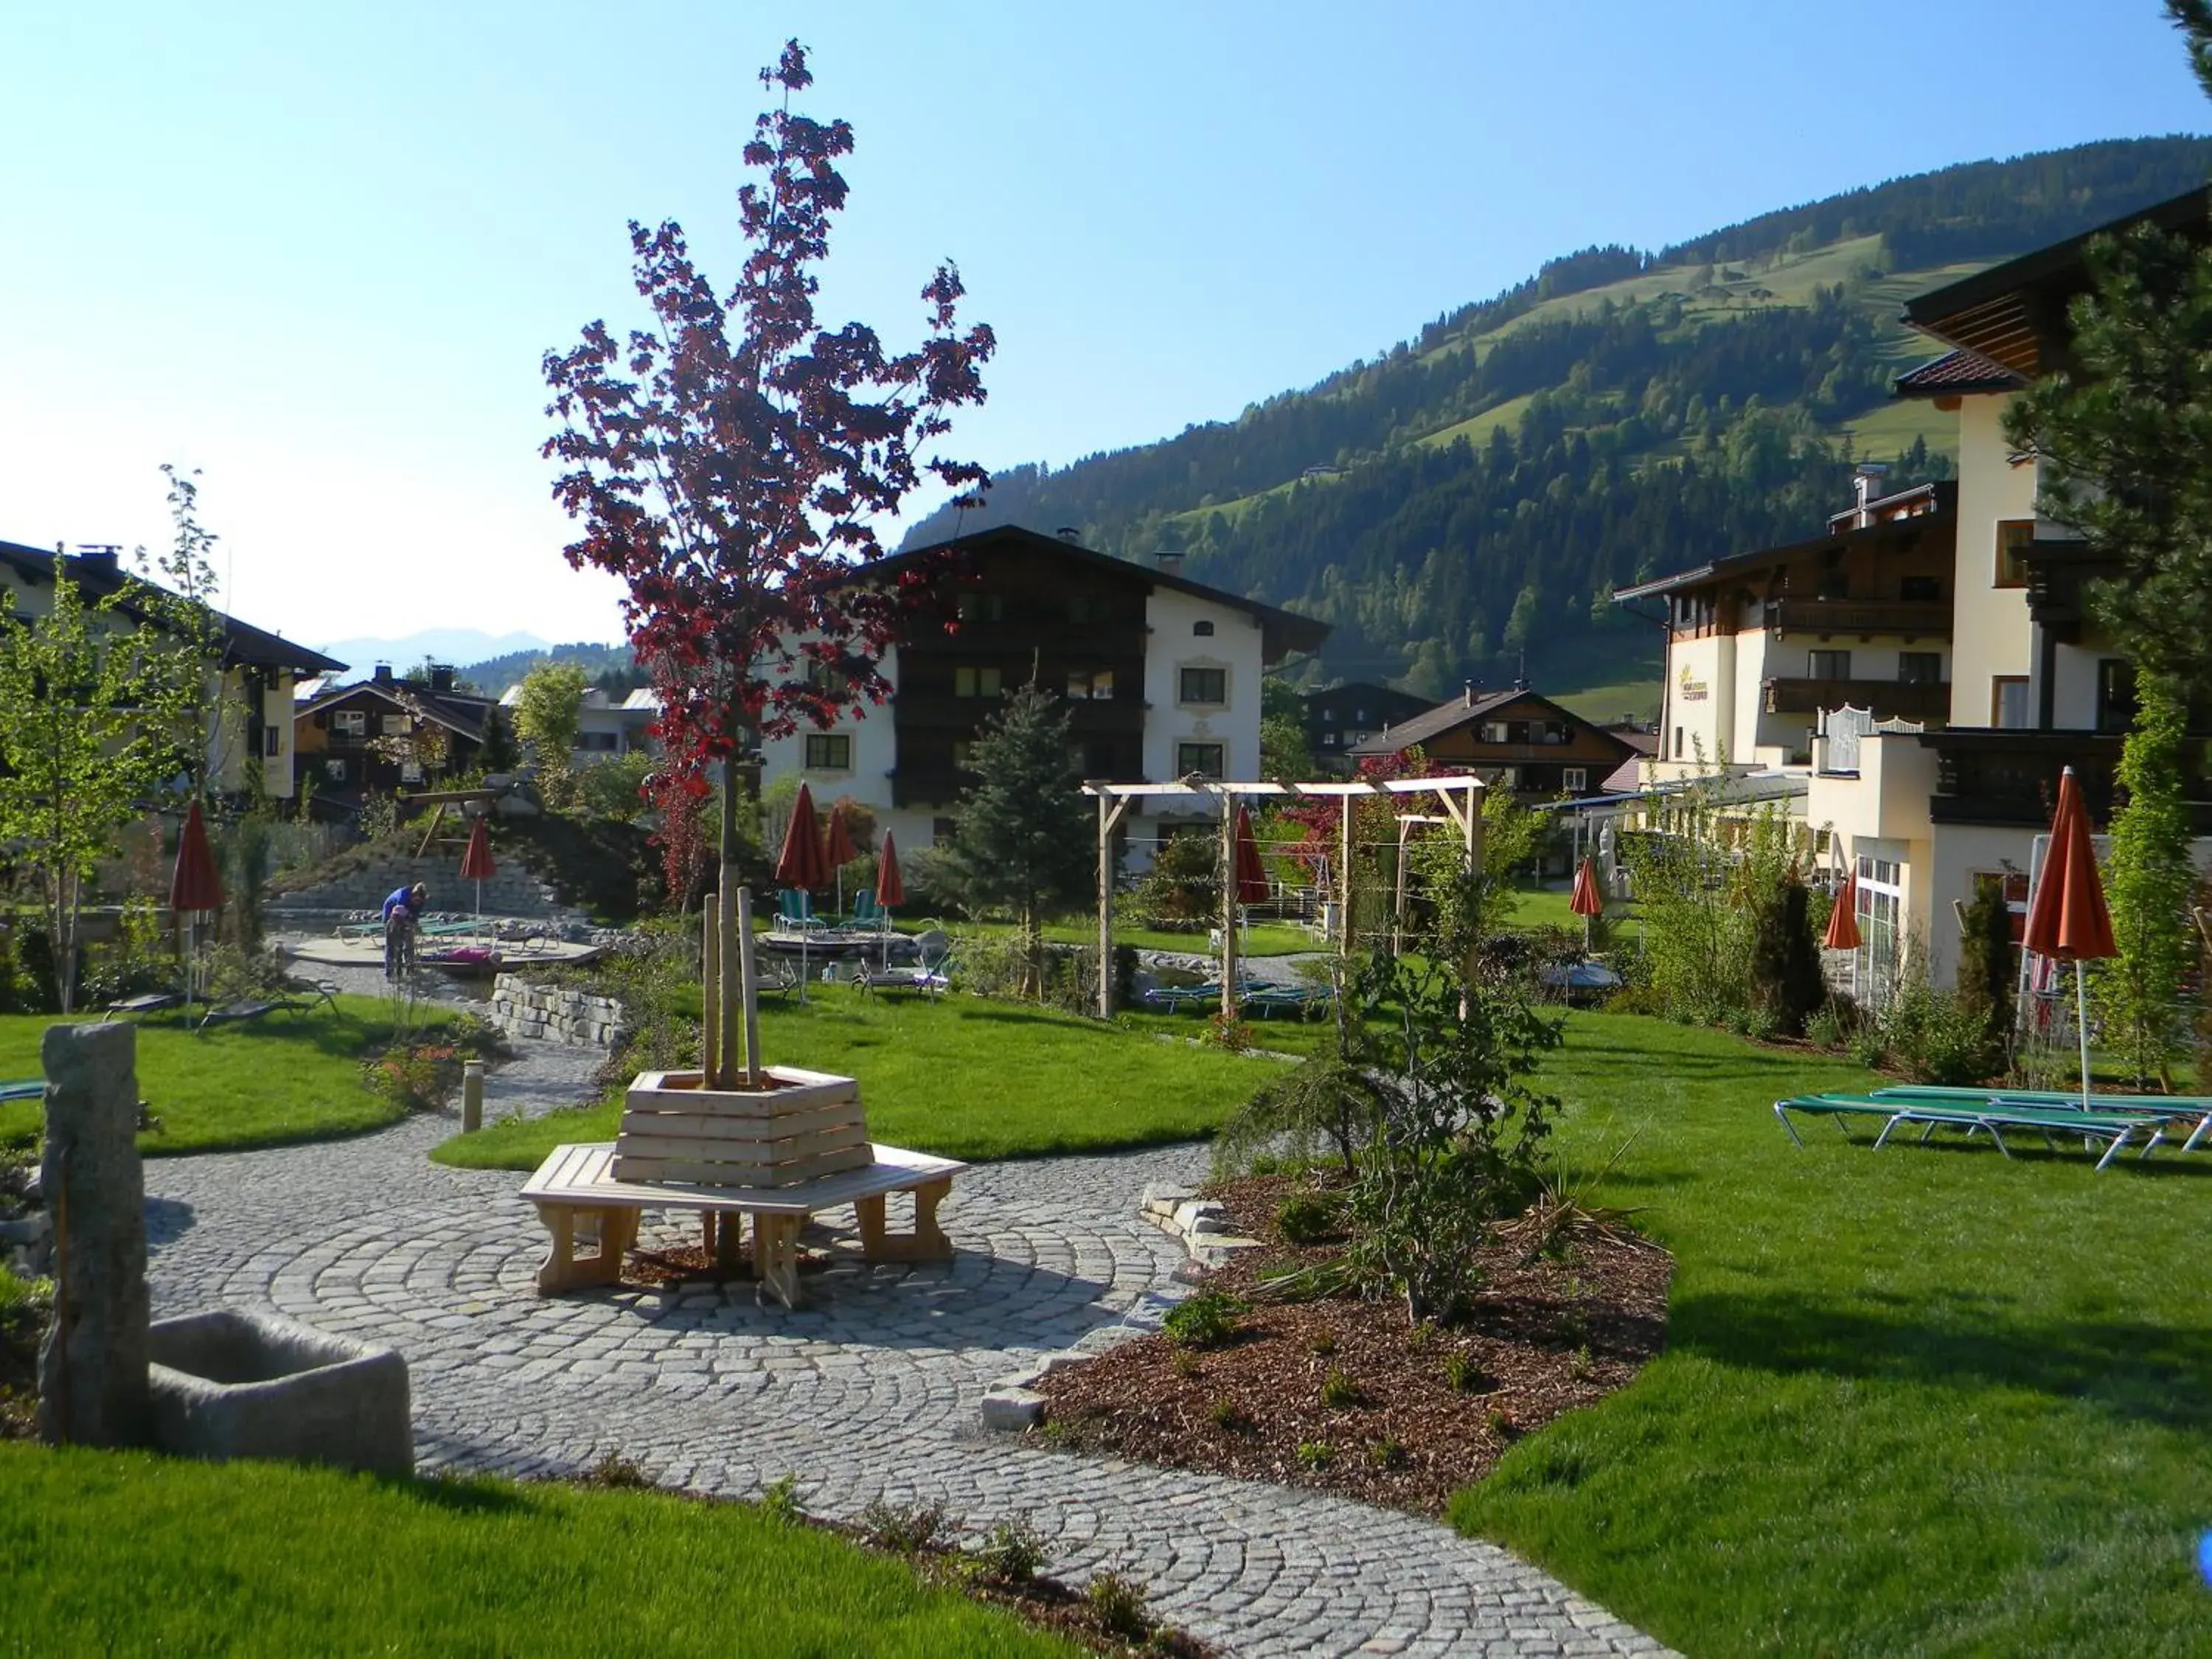
<instances>
[{"instance_id":1,"label":"clear blue sky fading to white at left, above the hillside","mask_svg":"<svg viewBox=\"0 0 2212 1659\"><path fill-rule=\"evenodd\" d=\"M538 363L633 316L630 217L730 270L792 33L858 133L823 312L905 341L958 259L987 465L1232 418L1593 241L2212 126L2154 0L190 11L0 20L0 540L159 542L201 467L232 608L307 641L619 633Z\"/></svg>"}]
</instances>

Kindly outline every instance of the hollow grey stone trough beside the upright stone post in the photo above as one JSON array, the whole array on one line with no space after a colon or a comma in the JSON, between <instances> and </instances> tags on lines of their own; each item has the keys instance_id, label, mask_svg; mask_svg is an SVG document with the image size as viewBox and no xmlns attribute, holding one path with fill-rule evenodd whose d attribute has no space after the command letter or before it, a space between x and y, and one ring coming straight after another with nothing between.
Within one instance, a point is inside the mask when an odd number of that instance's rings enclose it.
<instances>
[{"instance_id":1,"label":"hollow grey stone trough beside the upright stone post","mask_svg":"<svg viewBox=\"0 0 2212 1659\"><path fill-rule=\"evenodd\" d=\"M414 1473L407 1360L396 1349L234 1307L161 1318L146 1336L161 1451Z\"/></svg>"}]
</instances>

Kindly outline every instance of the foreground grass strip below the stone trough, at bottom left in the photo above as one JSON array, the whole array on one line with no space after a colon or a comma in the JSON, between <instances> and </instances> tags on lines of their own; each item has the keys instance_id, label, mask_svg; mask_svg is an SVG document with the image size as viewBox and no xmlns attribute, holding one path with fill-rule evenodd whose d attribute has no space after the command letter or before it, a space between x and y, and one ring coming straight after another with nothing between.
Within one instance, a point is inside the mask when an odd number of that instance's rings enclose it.
<instances>
[{"instance_id":1,"label":"foreground grass strip below the stone trough, at bottom left","mask_svg":"<svg viewBox=\"0 0 2212 1659\"><path fill-rule=\"evenodd\" d=\"M11 1652L1075 1652L830 1533L639 1491L0 1444L0 1559Z\"/></svg>"}]
</instances>

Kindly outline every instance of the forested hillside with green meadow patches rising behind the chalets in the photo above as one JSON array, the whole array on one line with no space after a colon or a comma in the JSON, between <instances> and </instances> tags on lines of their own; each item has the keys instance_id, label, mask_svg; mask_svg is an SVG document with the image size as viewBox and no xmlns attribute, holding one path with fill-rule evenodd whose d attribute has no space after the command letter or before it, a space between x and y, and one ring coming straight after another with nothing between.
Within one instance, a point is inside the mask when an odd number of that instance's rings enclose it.
<instances>
[{"instance_id":1,"label":"forested hillside with green meadow patches rising behind the chalets","mask_svg":"<svg viewBox=\"0 0 2212 1659\"><path fill-rule=\"evenodd\" d=\"M1011 467L958 529L1075 526L1121 557L1325 617L1305 677L1444 695L1522 653L1548 686L1650 661L1619 586L1818 529L1849 469L1949 473L1951 418L1889 383L1933 356L1902 301L2212 173L2212 139L1975 161L1657 254L1588 248L1234 422ZM918 544L956 531L940 513Z\"/></svg>"}]
</instances>

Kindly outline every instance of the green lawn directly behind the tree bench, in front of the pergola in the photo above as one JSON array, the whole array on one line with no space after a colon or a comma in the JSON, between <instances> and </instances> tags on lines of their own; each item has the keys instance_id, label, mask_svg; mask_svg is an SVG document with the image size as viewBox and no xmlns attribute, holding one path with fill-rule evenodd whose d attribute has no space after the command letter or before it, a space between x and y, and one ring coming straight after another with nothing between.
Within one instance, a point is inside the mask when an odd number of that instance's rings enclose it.
<instances>
[{"instance_id":1,"label":"green lawn directly behind the tree bench, in front of the pergola","mask_svg":"<svg viewBox=\"0 0 2212 1659\"><path fill-rule=\"evenodd\" d=\"M1208 1135L1276 1062L971 995L863 998L816 984L761 1009L770 1062L860 1079L878 1141L960 1159L1095 1152ZM1197 1020L1190 1031L1201 1029ZM489 1124L431 1157L531 1170L560 1141L615 1139L619 1102Z\"/></svg>"}]
</instances>

